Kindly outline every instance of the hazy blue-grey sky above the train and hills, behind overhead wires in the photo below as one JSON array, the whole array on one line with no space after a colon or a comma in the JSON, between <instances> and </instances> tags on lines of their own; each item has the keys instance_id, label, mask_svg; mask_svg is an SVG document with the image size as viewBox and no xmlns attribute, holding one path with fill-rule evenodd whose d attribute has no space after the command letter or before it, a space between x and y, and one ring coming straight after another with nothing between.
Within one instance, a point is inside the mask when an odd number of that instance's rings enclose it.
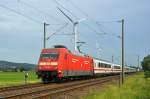
<instances>
[{"instance_id":1,"label":"hazy blue-grey sky above the train and hills, behind overhead wires","mask_svg":"<svg viewBox=\"0 0 150 99\"><path fill-rule=\"evenodd\" d=\"M67 26L47 41L47 47L66 45L73 51L71 22L58 11L61 8L78 25L81 49L94 57L120 63L121 23L125 20L125 63L137 65L150 53L149 0L0 0L0 60L37 63L43 47L43 22L47 37ZM71 12L71 13L70 13ZM106 35L102 35L106 33ZM70 35L58 35L70 34Z\"/></svg>"}]
</instances>

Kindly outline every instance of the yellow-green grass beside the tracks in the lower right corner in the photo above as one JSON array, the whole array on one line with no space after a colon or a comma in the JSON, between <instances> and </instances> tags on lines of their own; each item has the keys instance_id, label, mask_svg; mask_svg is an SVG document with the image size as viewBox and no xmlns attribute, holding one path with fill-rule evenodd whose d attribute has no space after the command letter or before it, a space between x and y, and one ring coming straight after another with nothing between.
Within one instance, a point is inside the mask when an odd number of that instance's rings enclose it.
<instances>
[{"instance_id":1,"label":"yellow-green grass beside the tracks in the lower right corner","mask_svg":"<svg viewBox=\"0 0 150 99\"><path fill-rule=\"evenodd\" d=\"M144 73L130 76L120 88L110 85L96 92L90 92L82 99L150 99L150 78L145 79Z\"/></svg>"}]
</instances>

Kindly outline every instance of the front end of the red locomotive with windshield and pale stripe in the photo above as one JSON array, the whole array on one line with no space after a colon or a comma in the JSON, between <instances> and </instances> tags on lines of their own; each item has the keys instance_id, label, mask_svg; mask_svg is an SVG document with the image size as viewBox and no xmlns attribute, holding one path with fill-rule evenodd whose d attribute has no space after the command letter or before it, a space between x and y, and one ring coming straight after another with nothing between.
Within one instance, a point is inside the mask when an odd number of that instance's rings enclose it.
<instances>
[{"instance_id":1,"label":"front end of the red locomotive with windshield and pale stripe","mask_svg":"<svg viewBox=\"0 0 150 99\"><path fill-rule=\"evenodd\" d=\"M44 83L50 82L58 76L59 52L43 49L37 66L37 75Z\"/></svg>"}]
</instances>

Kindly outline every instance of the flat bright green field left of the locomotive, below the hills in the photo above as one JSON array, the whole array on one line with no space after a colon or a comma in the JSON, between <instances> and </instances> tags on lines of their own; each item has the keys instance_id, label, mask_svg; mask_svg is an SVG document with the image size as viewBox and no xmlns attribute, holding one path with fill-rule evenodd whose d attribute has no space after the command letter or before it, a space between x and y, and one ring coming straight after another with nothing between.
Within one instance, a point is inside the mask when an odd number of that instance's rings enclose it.
<instances>
[{"instance_id":1,"label":"flat bright green field left of the locomotive, below the hills","mask_svg":"<svg viewBox=\"0 0 150 99\"><path fill-rule=\"evenodd\" d=\"M0 87L25 83L24 72L0 72ZM27 83L39 82L35 72L28 72Z\"/></svg>"}]
</instances>

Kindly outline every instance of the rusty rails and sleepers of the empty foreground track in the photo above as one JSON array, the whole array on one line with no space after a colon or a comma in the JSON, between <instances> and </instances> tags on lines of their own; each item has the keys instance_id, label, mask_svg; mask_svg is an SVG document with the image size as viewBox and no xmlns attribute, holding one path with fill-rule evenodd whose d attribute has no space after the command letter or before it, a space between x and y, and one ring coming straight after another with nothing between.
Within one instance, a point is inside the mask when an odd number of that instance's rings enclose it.
<instances>
[{"instance_id":1,"label":"rusty rails and sleepers of the empty foreground track","mask_svg":"<svg viewBox=\"0 0 150 99\"><path fill-rule=\"evenodd\" d=\"M90 79L90 80L83 80L83 81L76 81L76 82L71 82L71 83L65 83L65 84L60 84L58 86L55 86L54 88L47 86L46 88L40 88L32 91L26 91L24 93L18 93L18 94L11 94L8 96L3 96L5 99L15 99L15 98L41 98L45 96L50 96L56 93L64 92L67 90L73 90L75 88L79 87L85 87L85 86L90 86L94 84L100 84L104 82L110 81L112 78L118 78L119 76L108 76L108 77L103 77L103 78L96 78L96 79ZM66 89L67 88L67 89Z\"/></svg>"}]
</instances>

